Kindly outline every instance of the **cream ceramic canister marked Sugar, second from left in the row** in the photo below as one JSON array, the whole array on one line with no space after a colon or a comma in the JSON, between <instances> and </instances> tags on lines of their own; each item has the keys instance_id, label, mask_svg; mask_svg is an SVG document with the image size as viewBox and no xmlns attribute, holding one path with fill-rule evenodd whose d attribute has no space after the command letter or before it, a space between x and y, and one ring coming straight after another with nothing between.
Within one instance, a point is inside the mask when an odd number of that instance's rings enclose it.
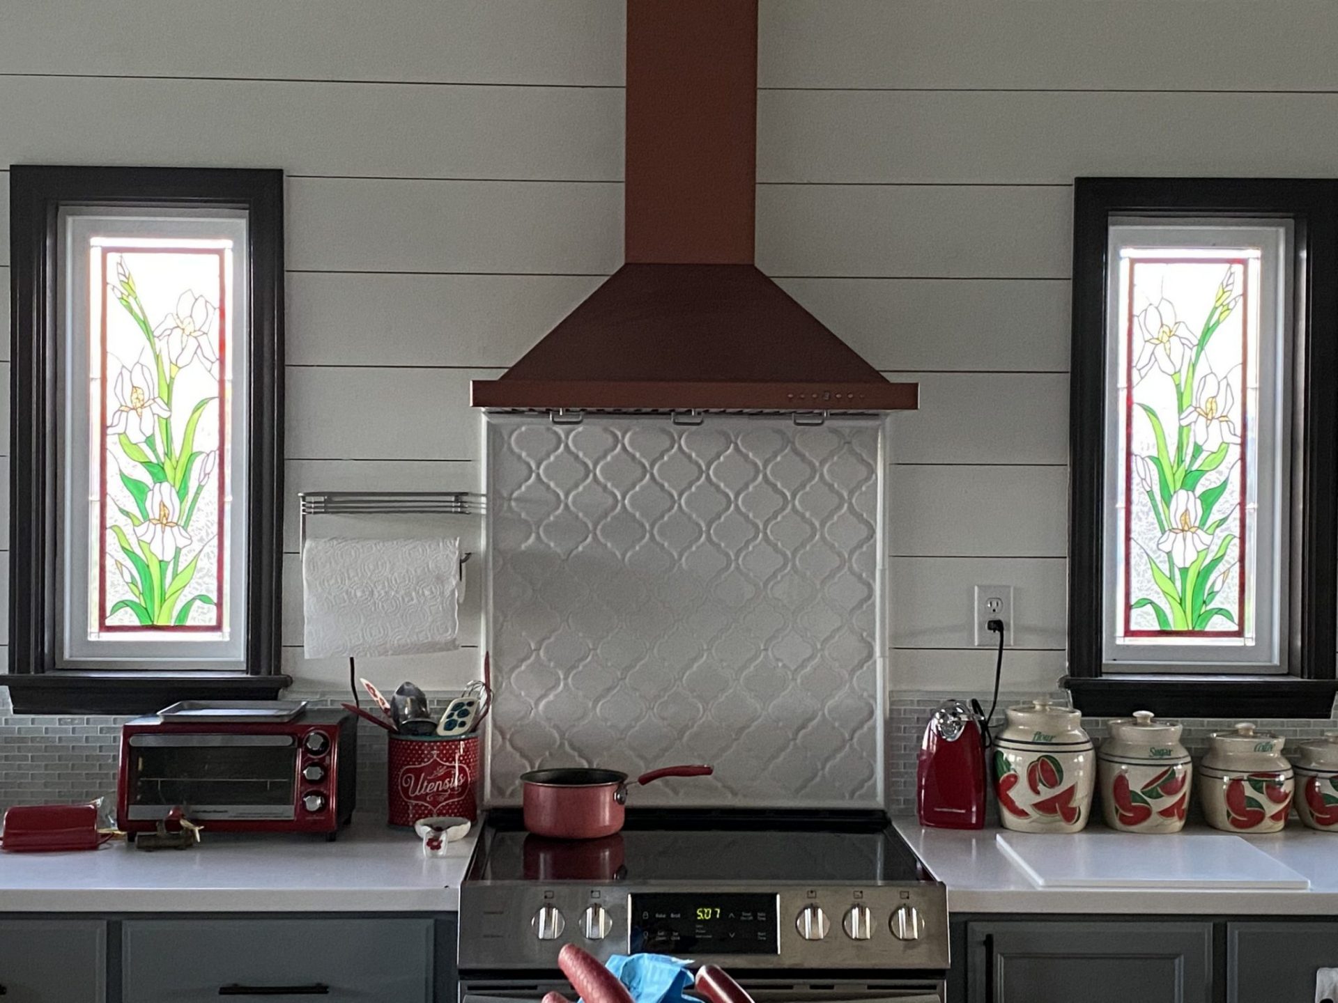
<instances>
[{"instance_id":1,"label":"cream ceramic canister marked Sugar, second from left in the row","mask_svg":"<svg viewBox=\"0 0 1338 1003\"><path fill-rule=\"evenodd\" d=\"M1180 745L1179 721L1157 721L1151 710L1109 723L1097 753L1105 824L1120 832L1168 833L1184 828L1192 760Z\"/></svg>"}]
</instances>

